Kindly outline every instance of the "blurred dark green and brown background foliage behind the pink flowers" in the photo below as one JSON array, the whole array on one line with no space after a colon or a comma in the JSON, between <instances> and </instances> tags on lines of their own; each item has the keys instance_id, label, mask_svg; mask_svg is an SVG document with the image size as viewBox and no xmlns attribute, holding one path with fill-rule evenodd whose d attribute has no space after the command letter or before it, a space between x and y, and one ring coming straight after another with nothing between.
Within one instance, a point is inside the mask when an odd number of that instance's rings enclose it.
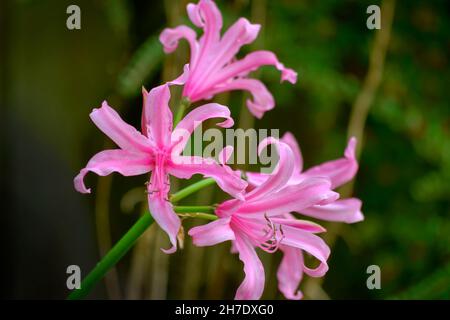
<instances>
[{"instance_id":1,"label":"blurred dark green and brown background foliage behind the pink flowers","mask_svg":"<svg viewBox=\"0 0 450 320\"><path fill-rule=\"evenodd\" d=\"M245 93L217 100L242 127L293 132L306 167L341 156L376 33L366 28L366 8L380 2L217 3L225 28L240 16L262 24L258 40L241 54L272 50L299 73L292 86L280 85L270 67L257 72L277 102L261 121L248 116ZM70 4L81 8L81 30L66 28ZM138 127L141 86L150 89L181 72L187 45L166 56L157 37L166 26L188 23L186 4L0 3L2 297L65 298L66 267L80 265L85 275L138 218L146 177L89 175L91 196L76 193L72 179L90 156L111 145L90 121L92 108L107 99ZM366 219L331 226L330 271L321 281L304 279L306 298L450 297L449 18L448 1L397 1L354 184ZM223 197L211 188L184 203ZM90 298L233 298L243 271L229 243L196 248L186 237L184 250L171 256L160 247L167 247L167 238L152 226ZM282 298L275 276L281 254L260 257L263 298ZM372 264L381 268L381 290L366 287Z\"/></svg>"}]
</instances>

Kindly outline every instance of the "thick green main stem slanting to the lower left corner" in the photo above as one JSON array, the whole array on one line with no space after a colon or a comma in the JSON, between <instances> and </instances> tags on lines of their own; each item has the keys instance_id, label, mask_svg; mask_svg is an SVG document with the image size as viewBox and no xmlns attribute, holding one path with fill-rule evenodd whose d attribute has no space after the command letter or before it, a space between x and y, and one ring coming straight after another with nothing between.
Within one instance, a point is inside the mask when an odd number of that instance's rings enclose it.
<instances>
[{"instance_id":1,"label":"thick green main stem slanting to the lower left corner","mask_svg":"<svg viewBox=\"0 0 450 320\"><path fill-rule=\"evenodd\" d=\"M105 274L111 269L128 250L134 245L136 240L145 230L154 222L150 214L144 214L131 227L130 230L112 247L112 249L103 257L95 268L81 282L80 289L74 290L68 297L68 300L78 300L86 297L92 288L99 282Z\"/></svg>"}]
</instances>

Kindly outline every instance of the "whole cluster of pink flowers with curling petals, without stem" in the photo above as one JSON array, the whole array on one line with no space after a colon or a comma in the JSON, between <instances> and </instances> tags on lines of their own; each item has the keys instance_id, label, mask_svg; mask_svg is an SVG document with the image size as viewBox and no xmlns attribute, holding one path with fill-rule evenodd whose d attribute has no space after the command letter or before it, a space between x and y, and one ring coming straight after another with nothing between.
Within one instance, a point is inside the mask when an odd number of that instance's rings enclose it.
<instances>
[{"instance_id":1,"label":"whole cluster of pink flowers with curling petals, without stem","mask_svg":"<svg viewBox=\"0 0 450 320\"><path fill-rule=\"evenodd\" d=\"M245 272L236 299L259 299L263 293L264 268L255 249L269 253L280 249L284 257L277 273L279 289L288 299L300 299L298 286L303 273L323 276L328 270L330 249L316 235L325 231L323 227L298 219L293 213L346 223L363 219L359 199L339 199L339 194L333 191L353 179L357 172L356 140L350 139L343 158L303 171L300 148L292 134L286 133L280 140L267 138L260 143L259 151L268 145L276 147L277 167L271 174L246 172L245 180L241 172L227 166L229 148L223 150L219 162L183 156L190 134L202 121L222 118L224 121L218 125L224 128L234 122L226 106L208 103L193 109L173 128L170 85L184 85L183 96L191 102L230 90L249 91L252 100L247 101L247 106L255 117L261 118L275 106L274 99L262 82L249 78L249 73L263 65L274 65L281 71L282 81L295 83L297 78L293 70L285 68L269 51L255 51L236 59L241 46L255 40L259 25L241 18L221 36L222 16L212 0L189 4L187 13L191 22L203 29L199 39L194 30L184 25L165 29L160 36L166 52L174 51L180 39L188 41L191 55L183 74L150 92L143 90L141 132L126 124L106 102L92 111L92 121L119 148L94 155L75 177L75 188L82 193L90 192L83 182L89 171L100 176L112 172L124 176L150 172L149 209L169 236L171 248L164 252L173 253L181 222L168 200L169 175L181 179L194 174L211 177L233 198L216 207L217 220L189 231L194 244L210 246L232 241L232 252L239 254ZM319 266L314 269L305 266L303 252L317 258Z\"/></svg>"}]
</instances>

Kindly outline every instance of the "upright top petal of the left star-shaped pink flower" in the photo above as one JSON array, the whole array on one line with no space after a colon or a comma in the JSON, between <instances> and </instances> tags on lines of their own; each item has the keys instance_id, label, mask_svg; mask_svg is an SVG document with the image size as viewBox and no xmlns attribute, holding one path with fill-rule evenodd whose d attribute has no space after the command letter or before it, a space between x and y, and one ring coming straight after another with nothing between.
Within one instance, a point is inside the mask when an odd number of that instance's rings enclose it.
<instances>
[{"instance_id":1,"label":"upright top petal of the left star-shaped pink flower","mask_svg":"<svg viewBox=\"0 0 450 320\"><path fill-rule=\"evenodd\" d=\"M169 100L168 84L152 89L144 99L147 136L160 147L169 144L172 133L173 116L169 108Z\"/></svg>"}]
</instances>

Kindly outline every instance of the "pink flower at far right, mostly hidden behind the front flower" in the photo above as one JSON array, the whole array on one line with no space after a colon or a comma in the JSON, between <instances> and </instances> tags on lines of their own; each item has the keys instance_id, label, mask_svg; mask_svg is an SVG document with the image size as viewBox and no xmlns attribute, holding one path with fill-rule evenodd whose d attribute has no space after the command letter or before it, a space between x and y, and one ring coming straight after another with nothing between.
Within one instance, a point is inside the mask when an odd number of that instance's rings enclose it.
<instances>
[{"instance_id":1,"label":"pink flower at far right, mostly hidden behind the front flower","mask_svg":"<svg viewBox=\"0 0 450 320\"><path fill-rule=\"evenodd\" d=\"M302 172L303 159L300 147L294 136L288 132L281 138L281 141L291 147L295 158L294 173L289 179L288 185L296 185L311 177L326 177L331 181L332 189L335 189L353 179L358 171L358 162L355 158L355 138L349 140L343 158L325 162L304 172ZM270 175L248 172L247 178L250 186L255 187L270 179ZM326 221L355 223L364 219L361 205L361 200L348 198L325 205L305 207L298 212ZM289 213L286 213L285 216L295 219ZM280 250L284 255L277 272L278 287L287 299L301 299L302 293L297 291L297 288L302 280L303 271L311 275L309 270L303 268L303 253L301 250L288 246L280 246Z\"/></svg>"}]
</instances>

